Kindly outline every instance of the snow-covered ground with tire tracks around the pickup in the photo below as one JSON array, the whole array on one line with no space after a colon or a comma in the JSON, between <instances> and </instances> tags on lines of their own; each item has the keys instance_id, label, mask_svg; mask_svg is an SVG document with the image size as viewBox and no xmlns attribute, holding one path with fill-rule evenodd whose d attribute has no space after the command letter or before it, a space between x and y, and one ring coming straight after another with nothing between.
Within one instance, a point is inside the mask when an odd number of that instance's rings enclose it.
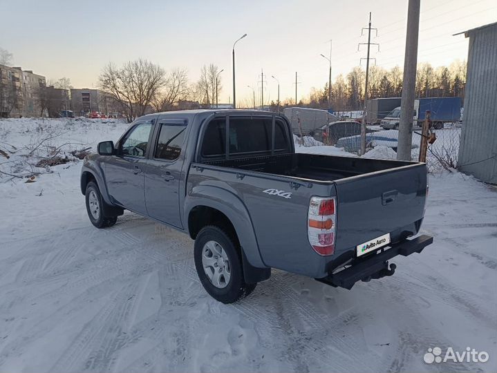
<instances>
[{"instance_id":1,"label":"snow-covered ground with tire tracks around the pickup","mask_svg":"<svg viewBox=\"0 0 497 373\"><path fill-rule=\"evenodd\" d=\"M38 122L0 120L0 149L32 143ZM54 145L95 146L127 126L70 122L50 122L70 128ZM494 187L431 175L422 231L435 242L395 258L392 277L348 291L274 270L223 305L200 285L185 234L132 213L95 229L80 166L1 180L0 372L497 371ZM489 361L429 365L433 347Z\"/></svg>"}]
</instances>

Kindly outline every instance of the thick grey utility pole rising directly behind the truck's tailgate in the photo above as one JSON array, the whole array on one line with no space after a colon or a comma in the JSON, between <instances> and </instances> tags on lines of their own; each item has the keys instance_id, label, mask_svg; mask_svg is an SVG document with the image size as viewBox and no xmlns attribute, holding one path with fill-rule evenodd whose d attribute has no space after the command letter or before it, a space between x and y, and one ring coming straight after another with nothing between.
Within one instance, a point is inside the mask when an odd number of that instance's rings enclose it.
<instances>
[{"instance_id":1,"label":"thick grey utility pole rising directly behind the truck's tailgate","mask_svg":"<svg viewBox=\"0 0 497 373\"><path fill-rule=\"evenodd\" d=\"M404 82L400 102L399 140L397 160L411 160L413 144L413 111L418 66L418 34L420 31L420 0L409 0L407 8L406 52L404 56Z\"/></svg>"}]
</instances>

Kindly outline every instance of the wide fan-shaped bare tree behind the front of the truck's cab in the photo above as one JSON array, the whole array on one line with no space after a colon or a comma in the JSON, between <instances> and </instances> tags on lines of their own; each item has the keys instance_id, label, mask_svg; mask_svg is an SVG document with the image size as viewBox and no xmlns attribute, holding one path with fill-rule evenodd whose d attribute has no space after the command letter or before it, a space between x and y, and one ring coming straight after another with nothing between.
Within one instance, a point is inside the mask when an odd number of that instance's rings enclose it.
<instances>
[{"instance_id":1,"label":"wide fan-shaped bare tree behind the front of the truck's cab","mask_svg":"<svg viewBox=\"0 0 497 373\"><path fill-rule=\"evenodd\" d=\"M122 68L110 63L99 77L100 88L119 104L129 122L147 112L165 84L165 71L146 59L128 61Z\"/></svg>"}]
</instances>

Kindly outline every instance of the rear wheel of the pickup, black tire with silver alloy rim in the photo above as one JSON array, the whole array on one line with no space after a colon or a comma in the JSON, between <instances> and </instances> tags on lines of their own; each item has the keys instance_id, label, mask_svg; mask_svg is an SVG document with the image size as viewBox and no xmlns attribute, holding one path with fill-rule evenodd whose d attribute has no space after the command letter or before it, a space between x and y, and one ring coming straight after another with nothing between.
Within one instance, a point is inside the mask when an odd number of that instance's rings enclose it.
<instances>
[{"instance_id":1,"label":"rear wheel of the pickup, black tire with silver alloy rim","mask_svg":"<svg viewBox=\"0 0 497 373\"><path fill-rule=\"evenodd\" d=\"M200 283L219 302L236 302L257 285L245 283L240 247L219 227L209 225L198 232L194 258Z\"/></svg>"}]
</instances>

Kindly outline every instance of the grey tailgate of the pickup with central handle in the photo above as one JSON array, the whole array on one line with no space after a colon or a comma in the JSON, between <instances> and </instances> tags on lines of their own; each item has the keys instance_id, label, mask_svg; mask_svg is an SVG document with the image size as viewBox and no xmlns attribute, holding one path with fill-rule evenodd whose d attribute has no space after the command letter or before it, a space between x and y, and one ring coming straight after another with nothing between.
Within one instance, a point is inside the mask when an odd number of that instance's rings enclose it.
<instances>
[{"instance_id":1,"label":"grey tailgate of the pickup with central handle","mask_svg":"<svg viewBox=\"0 0 497 373\"><path fill-rule=\"evenodd\" d=\"M420 229L426 200L424 164L344 178L335 181L335 187L338 256L386 233L394 243Z\"/></svg>"}]
</instances>

